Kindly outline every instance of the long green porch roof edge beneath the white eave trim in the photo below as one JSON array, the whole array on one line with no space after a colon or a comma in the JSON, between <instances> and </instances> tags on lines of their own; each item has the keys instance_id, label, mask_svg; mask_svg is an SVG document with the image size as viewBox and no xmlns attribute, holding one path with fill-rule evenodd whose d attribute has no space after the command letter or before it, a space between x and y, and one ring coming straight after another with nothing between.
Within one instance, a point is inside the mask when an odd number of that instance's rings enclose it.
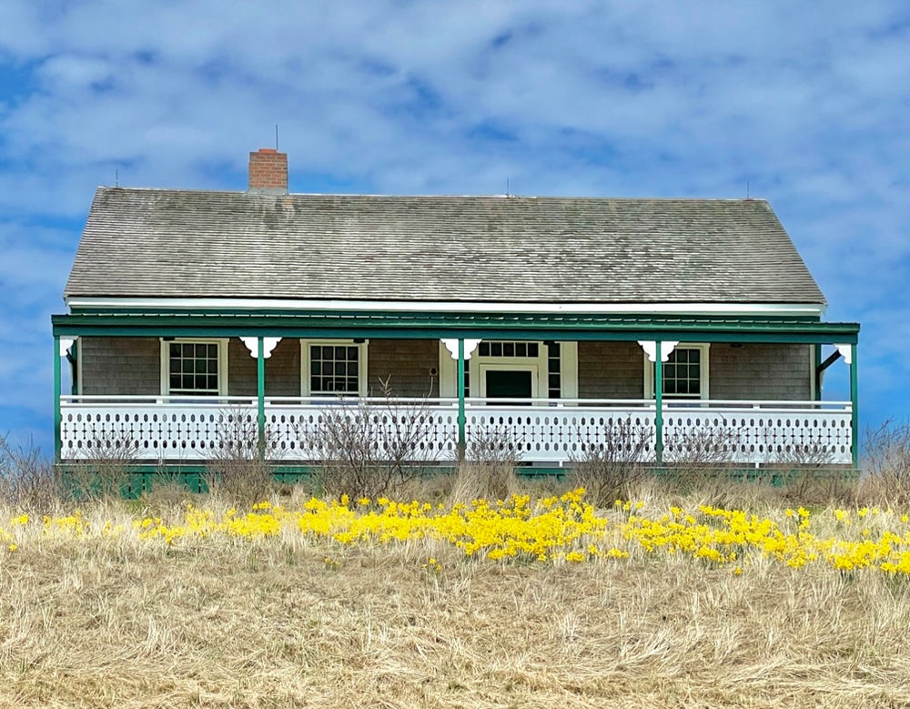
<instances>
[{"instance_id":1,"label":"long green porch roof edge beneath the white eave trim","mask_svg":"<svg viewBox=\"0 0 910 709\"><path fill-rule=\"evenodd\" d=\"M62 337L288 337L388 339L676 339L854 344L859 325L810 318L484 314L101 312L52 317Z\"/></svg>"}]
</instances>

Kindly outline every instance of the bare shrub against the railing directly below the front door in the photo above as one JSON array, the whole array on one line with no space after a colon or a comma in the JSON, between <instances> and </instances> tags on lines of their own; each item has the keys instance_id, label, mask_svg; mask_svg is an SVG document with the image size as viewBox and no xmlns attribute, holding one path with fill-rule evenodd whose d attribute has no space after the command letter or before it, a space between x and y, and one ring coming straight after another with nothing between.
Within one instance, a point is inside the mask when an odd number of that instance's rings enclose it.
<instances>
[{"instance_id":1,"label":"bare shrub against the railing directly below the front door","mask_svg":"<svg viewBox=\"0 0 910 709\"><path fill-rule=\"evenodd\" d=\"M506 500L521 490L515 474L521 463L522 441L501 426L469 430L465 457L452 481L451 504L468 504L480 498Z\"/></svg>"}]
</instances>

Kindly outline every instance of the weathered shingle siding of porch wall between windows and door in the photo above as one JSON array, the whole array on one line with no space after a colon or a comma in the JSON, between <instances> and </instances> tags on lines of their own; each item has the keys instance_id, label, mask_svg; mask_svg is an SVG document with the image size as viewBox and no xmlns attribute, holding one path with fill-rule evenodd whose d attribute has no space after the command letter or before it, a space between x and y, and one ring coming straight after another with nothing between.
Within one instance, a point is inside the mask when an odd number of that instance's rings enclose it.
<instances>
[{"instance_id":1,"label":"weathered shingle siding of porch wall between windows and door","mask_svg":"<svg viewBox=\"0 0 910 709\"><path fill-rule=\"evenodd\" d=\"M389 380L392 396L439 396L440 366L435 339L372 339L367 388L382 394ZM160 341L157 338L83 338L83 393L155 395L160 393ZM799 344L715 343L709 349L712 399L808 400L811 346ZM578 390L583 399L641 399L644 355L635 342L578 343ZM228 394L256 396L256 360L239 339L227 345ZM300 341L286 338L266 360L267 396L300 395Z\"/></svg>"}]
</instances>

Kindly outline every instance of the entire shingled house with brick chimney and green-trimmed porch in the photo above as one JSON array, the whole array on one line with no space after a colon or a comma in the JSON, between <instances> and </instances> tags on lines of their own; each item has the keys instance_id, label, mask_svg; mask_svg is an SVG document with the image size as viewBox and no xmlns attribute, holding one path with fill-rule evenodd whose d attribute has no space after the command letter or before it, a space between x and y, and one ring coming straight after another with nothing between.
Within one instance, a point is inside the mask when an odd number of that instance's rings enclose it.
<instances>
[{"instance_id":1,"label":"entire shingled house with brick chimney and green-trimmed porch","mask_svg":"<svg viewBox=\"0 0 910 709\"><path fill-rule=\"evenodd\" d=\"M856 465L859 326L824 322L763 200L290 194L262 149L245 192L99 187L64 298L61 461L112 437L205 461L233 410L311 463L308 426L379 397L420 407L438 461L496 434L561 465L635 430L656 463L707 433L728 461ZM841 357L851 400L823 401Z\"/></svg>"}]
</instances>

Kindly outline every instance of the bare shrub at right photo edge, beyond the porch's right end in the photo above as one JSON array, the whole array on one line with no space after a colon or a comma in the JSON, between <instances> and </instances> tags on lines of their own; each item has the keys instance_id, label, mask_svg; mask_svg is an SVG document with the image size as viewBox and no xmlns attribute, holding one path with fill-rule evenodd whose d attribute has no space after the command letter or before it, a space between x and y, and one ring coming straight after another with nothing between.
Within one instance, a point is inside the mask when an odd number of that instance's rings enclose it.
<instances>
[{"instance_id":1,"label":"bare shrub at right photo edge, beyond the porch's right end","mask_svg":"<svg viewBox=\"0 0 910 709\"><path fill-rule=\"evenodd\" d=\"M865 497L910 509L910 422L885 421L866 430L864 471Z\"/></svg>"}]
</instances>

